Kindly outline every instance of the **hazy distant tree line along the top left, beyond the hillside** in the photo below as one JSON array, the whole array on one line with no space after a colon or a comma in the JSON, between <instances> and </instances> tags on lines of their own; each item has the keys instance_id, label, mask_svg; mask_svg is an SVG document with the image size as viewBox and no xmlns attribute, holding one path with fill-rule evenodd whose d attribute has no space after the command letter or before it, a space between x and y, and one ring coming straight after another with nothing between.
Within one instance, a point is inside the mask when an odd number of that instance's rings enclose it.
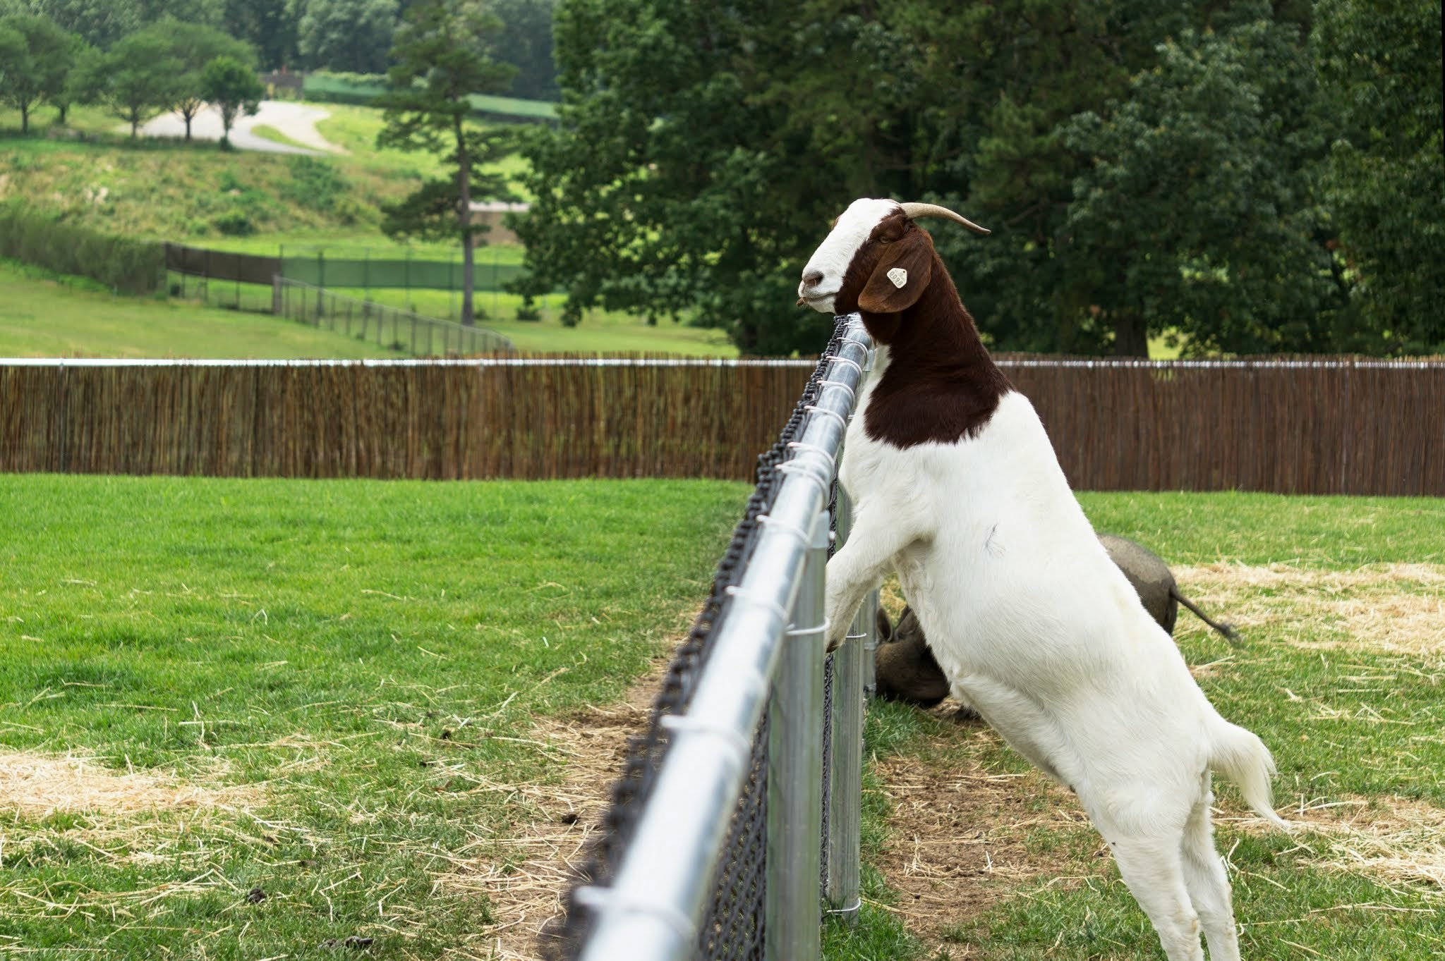
<instances>
[{"instance_id":1,"label":"hazy distant tree line along the top left, beyond the hillside","mask_svg":"<svg viewBox=\"0 0 1445 961\"><path fill-rule=\"evenodd\" d=\"M486 0L501 23L499 59L517 68L512 94L556 100L555 0ZM266 71L384 74L396 30L418 0L0 0L0 16L42 16L108 51L163 17L214 27L251 46Z\"/></svg>"}]
</instances>

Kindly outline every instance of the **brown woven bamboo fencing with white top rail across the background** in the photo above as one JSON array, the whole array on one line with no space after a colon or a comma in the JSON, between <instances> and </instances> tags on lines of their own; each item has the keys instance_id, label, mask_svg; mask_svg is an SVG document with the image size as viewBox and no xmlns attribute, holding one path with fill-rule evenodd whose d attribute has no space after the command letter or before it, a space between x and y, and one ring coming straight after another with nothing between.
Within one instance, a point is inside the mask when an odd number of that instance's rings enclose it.
<instances>
[{"instance_id":1,"label":"brown woven bamboo fencing with white top rail across the background","mask_svg":"<svg viewBox=\"0 0 1445 961\"><path fill-rule=\"evenodd\" d=\"M1445 362L1003 359L1092 491L1445 496ZM811 361L0 361L0 470L736 478Z\"/></svg>"}]
</instances>

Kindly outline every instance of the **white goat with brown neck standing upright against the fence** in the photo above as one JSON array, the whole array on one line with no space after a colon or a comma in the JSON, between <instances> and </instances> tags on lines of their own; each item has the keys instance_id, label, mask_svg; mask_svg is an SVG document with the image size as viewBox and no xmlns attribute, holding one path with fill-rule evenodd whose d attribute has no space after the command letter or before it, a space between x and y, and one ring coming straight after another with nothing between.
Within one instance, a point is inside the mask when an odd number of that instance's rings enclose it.
<instances>
[{"instance_id":1,"label":"white goat with brown neck standing upright against the fence","mask_svg":"<svg viewBox=\"0 0 1445 961\"><path fill-rule=\"evenodd\" d=\"M798 287L818 312L857 310L876 345L840 469L854 525L828 561L828 648L896 570L952 691L1078 795L1169 961L1204 961L1201 926L1212 961L1238 961L1209 776L1283 824L1273 758L1215 711L1108 560L920 216L985 232L860 199Z\"/></svg>"}]
</instances>

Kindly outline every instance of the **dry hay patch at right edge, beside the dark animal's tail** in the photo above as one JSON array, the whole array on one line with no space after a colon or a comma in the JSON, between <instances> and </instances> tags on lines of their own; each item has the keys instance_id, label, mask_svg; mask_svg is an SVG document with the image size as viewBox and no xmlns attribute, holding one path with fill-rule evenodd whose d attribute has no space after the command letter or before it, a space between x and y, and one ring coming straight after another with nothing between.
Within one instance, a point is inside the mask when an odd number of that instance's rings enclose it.
<instances>
[{"instance_id":1,"label":"dry hay patch at right edge, beside the dark animal's tail","mask_svg":"<svg viewBox=\"0 0 1445 961\"><path fill-rule=\"evenodd\" d=\"M1191 600L1246 636L1263 628L1306 646L1445 655L1442 564L1367 564L1351 571L1207 564L1173 573ZM1181 626L1188 622L1182 618ZM1321 629L1335 638L1321 639Z\"/></svg>"}]
</instances>

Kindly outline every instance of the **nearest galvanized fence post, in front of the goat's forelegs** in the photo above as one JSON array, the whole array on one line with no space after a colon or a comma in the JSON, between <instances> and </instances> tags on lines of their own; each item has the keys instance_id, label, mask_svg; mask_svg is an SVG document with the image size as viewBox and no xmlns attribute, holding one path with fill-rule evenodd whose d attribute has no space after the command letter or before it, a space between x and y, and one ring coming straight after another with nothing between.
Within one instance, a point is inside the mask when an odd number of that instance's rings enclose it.
<instances>
[{"instance_id":1,"label":"nearest galvanized fence post, in front of the goat's forelegs","mask_svg":"<svg viewBox=\"0 0 1445 961\"><path fill-rule=\"evenodd\" d=\"M814 518L808 560L783 638L769 700L767 903L763 957L802 961L822 954L818 922L822 848L824 569L828 514Z\"/></svg>"}]
</instances>

